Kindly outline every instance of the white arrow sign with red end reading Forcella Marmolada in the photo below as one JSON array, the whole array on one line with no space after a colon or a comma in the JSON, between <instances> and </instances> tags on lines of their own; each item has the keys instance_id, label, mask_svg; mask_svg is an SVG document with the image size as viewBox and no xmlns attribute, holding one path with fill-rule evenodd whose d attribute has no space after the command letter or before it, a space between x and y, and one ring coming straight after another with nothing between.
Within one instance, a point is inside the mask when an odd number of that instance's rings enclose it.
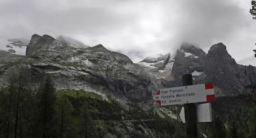
<instances>
[{"instance_id":1,"label":"white arrow sign with red end reading Forcella Marmolada","mask_svg":"<svg viewBox=\"0 0 256 138\"><path fill-rule=\"evenodd\" d=\"M154 100L161 106L215 101L213 83L163 88Z\"/></svg>"}]
</instances>

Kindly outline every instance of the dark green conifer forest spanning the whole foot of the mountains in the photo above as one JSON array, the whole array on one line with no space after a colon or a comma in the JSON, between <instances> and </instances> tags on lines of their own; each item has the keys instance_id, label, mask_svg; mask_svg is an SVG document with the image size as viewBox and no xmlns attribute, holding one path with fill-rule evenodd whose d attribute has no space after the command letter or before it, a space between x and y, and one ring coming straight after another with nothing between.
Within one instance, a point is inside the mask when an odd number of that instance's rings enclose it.
<instances>
[{"instance_id":1,"label":"dark green conifer forest spanning the whole foot of the mountains","mask_svg":"<svg viewBox=\"0 0 256 138\"><path fill-rule=\"evenodd\" d=\"M198 124L200 137L255 137L252 101L250 95L217 98L212 103L213 122ZM141 131L131 132L133 137L147 137L141 124L159 137L186 137L179 119L140 110L136 104L128 107L110 96L56 90L50 75L36 88L28 85L24 73L12 76L10 85L1 88L0 102L0 137L124 137L129 123ZM164 108L179 114L180 106Z\"/></svg>"}]
</instances>

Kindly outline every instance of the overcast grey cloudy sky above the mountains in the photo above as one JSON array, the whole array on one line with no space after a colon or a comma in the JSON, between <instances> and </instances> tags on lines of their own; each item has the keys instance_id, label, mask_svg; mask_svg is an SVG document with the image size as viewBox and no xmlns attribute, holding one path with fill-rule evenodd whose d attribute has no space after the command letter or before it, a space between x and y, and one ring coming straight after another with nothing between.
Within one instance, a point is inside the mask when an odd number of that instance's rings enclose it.
<instances>
[{"instance_id":1,"label":"overcast grey cloudy sky above the mountains","mask_svg":"<svg viewBox=\"0 0 256 138\"><path fill-rule=\"evenodd\" d=\"M206 53L223 42L239 64L256 65L250 0L0 0L0 36L66 35L133 62L174 53L181 41Z\"/></svg>"}]
</instances>

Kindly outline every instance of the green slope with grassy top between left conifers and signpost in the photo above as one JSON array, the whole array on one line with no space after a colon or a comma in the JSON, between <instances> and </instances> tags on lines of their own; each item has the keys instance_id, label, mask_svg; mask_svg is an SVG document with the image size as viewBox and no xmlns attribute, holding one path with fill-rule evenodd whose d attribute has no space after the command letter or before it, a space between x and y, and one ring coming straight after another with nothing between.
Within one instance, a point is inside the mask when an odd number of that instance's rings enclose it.
<instances>
[{"instance_id":1,"label":"green slope with grassy top between left conifers and signpost","mask_svg":"<svg viewBox=\"0 0 256 138\"><path fill-rule=\"evenodd\" d=\"M74 116L79 116L84 102L87 103L90 115L96 129L101 135L107 133L123 137L182 137L180 124L168 116L160 118L154 111L141 111L136 105L124 108L118 101L82 89L63 89L57 92L57 97L67 95L74 107Z\"/></svg>"}]
</instances>

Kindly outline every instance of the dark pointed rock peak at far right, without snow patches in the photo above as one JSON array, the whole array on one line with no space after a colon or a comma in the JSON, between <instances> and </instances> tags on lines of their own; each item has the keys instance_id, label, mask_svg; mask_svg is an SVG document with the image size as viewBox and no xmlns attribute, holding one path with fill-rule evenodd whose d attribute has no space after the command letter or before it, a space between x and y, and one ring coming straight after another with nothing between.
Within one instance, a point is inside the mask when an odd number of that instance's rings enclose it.
<instances>
[{"instance_id":1,"label":"dark pointed rock peak at far right, without snow patches","mask_svg":"<svg viewBox=\"0 0 256 138\"><path fill-rule=\"evenodd\" d=\"M255 69L238 65L228 54L223 43L212 45L208 51L204 73L205 81L213 82L224 91L221 95L237 95L249 85L249 72Z\"/></svg>"}]
</instances>

